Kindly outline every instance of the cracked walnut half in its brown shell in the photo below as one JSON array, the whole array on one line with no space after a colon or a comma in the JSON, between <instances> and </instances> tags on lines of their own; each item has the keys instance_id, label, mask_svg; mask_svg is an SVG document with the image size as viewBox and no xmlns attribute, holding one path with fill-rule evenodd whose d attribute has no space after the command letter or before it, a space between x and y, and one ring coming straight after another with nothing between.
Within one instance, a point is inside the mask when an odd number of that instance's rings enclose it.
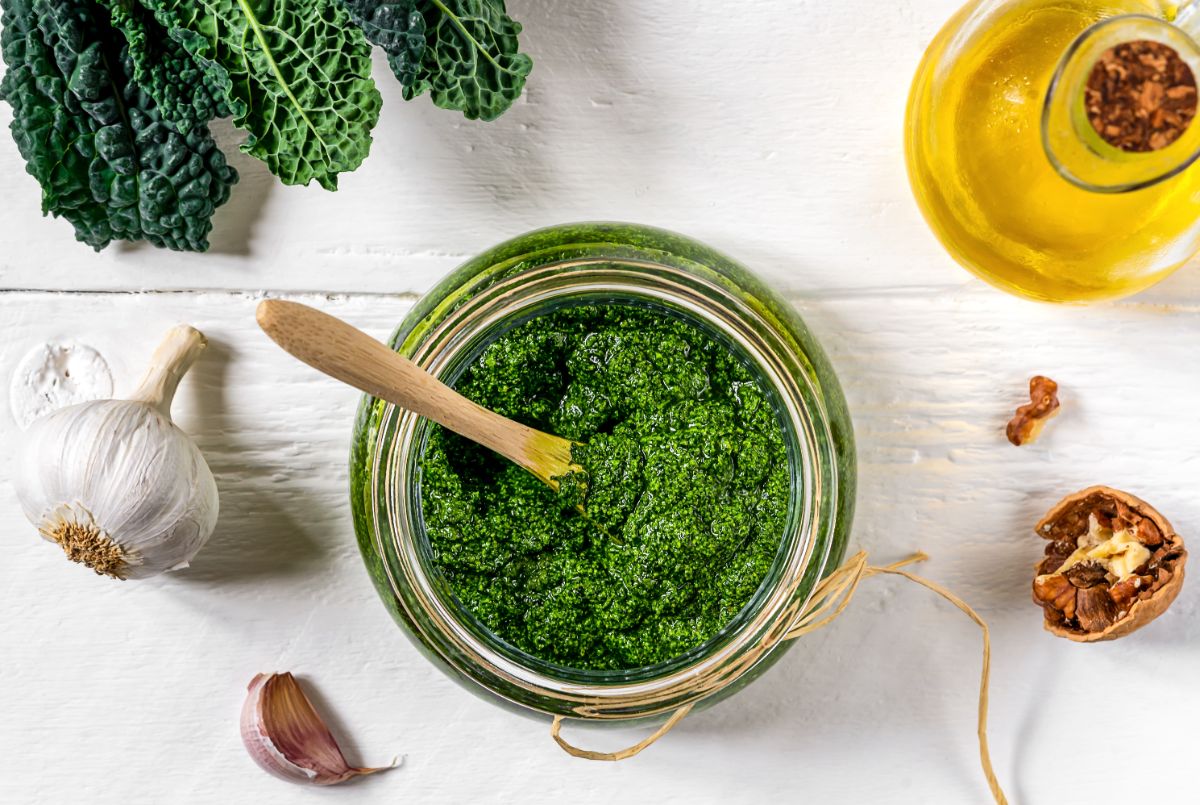
<instances>
[{"instance_id":1,"label":"cracked walnut half in its brown shell","mask_svg":"<svg viewBox=\"0 0 1200 805\"><path fill-rule=\"evenodd\" d=\"M1175 601L1188 552L1171 523L1145 500L1094 486L1042 518L1049 540L1033 601L1046 631L1092 643L1141 629Z\"/></svg>"}]
</instances>

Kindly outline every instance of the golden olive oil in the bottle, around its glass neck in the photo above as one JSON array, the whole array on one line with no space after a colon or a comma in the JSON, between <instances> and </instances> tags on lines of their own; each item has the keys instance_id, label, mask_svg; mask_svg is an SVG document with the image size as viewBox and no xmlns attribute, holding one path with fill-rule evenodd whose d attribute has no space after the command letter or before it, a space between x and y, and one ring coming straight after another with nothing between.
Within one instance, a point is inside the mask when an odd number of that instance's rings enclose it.
<instances>
[{"instance_id":1,"label":"golden olive oil in the bottle, around its glass neck","mask_svg":"<svg viewBox=\"0 0 1200 805\"><path fill-rule=\"evenodd\" d=\"M1043 146L1051 79L1076 37L1117 14L1169 11L1146 0L974 2L938 34L913 83L906 151L917 202L955 259L1016 294L1087 301L1141 290L1196 251L1200 169L1097 192L1061 175Z\"/></svg>"}]
</instances>

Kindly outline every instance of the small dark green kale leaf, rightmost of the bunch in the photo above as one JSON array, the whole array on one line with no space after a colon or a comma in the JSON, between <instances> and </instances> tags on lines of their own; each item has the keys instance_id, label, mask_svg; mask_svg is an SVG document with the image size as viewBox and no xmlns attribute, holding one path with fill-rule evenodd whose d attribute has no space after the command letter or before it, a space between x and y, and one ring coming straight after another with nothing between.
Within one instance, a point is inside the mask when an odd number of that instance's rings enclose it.
<instances>
[{"instance_id":1,"label":"small dark green kale leaf, rightmost of the bunch","mask_svg":"<svg viewBox=\"0 0 1200 805\"><path fill-rule=\"evenodd\" d=\"M494 120L524 89L533 61L504 0L341 0L388 53L404 100L428 91L443 109Z\"/></svg>"}]
</instances>

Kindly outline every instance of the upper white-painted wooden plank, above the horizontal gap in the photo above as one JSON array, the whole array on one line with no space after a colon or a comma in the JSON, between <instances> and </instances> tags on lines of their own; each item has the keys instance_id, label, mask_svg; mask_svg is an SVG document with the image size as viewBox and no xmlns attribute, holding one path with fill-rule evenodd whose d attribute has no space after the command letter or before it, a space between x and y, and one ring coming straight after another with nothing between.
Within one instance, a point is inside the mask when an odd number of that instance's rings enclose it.
<instances>
[{"instance_id":1,"label":"upper white-painted wooden plank, above the horizontal gap","mask_svg":"<svg viewBox=\"0 0 1200 805\"><path fill-rule=\"evenodd\" d=\"M283 187L227 148L242 181L205 256L72 248L5 143L5 228L19 238L0 288L422 292L500 240L581 220L680 229L788 289L961 286L901 158L908 80L954 5L516 0L536 72L511 112L479 124L404 103L380 59L362 169L336 193Z\"/></svg>"}]
</instances>

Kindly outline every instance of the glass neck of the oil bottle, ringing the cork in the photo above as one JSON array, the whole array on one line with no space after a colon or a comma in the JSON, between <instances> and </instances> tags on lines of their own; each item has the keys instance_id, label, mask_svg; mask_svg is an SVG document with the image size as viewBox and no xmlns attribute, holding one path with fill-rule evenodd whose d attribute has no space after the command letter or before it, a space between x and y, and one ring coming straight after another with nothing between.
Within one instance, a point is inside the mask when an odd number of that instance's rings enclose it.
<instances>
[{"instance_id":1,"label":"glass neck of the oil bottle, ringing the cork","mask_svg":"<svg viewBox=\"0 0 1200 805\"><path fill-rule=\"evenodd\" d=\"M1168 181L1200 157L1200 124L1170 145L1147 152L1110 145L1092 126L1085 102L1096 62L1127 42L1160 42L1200 77L1200 0L1170 5L1163 17L1122 14L1102 20L1067 48L1046 92L1042 143L1063 179L1094 193L1127 193Z\"/></svg>"}]
</instances>

